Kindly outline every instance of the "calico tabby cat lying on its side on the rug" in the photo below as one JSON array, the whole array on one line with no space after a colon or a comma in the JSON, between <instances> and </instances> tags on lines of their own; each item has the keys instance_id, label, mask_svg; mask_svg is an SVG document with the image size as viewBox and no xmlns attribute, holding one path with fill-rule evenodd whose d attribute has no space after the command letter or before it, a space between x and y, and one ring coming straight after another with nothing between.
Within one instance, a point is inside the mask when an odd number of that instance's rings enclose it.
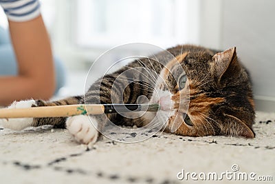
<instances>
[{"instance_id":1,"label":"calico tabby cat lying on its side on the rug","mask_svg":"<svg viewBox=\"0 0 275 184\"><path fill-rule=\"evenodd\" d=\"M12 103L10 108L84 103L134 104L142 95L149 99L149 103L159 103L159 113L166 118L165 132L181 136L254 138L252 83L236 55L236 48L220 52L196 45L177 45L167 51L175 59L170 59L164 52L156 54L156 59L136 59L120 70L102 76L91 85L85 96L72 96L60 101L19 101ZM135 68L143 71L125 73ZM155 73L146 73L147 70ZM186 101L188 106L182 105ZM98 130L104 130L106 121L115 125L142 127L148 125L155 114L146 112L134 119L117 113L95 115L91 116L93 125L86 115L10 119L2 120L2 124L14 130L40 125L67 127L79 143L88 144L98 140Z\"/></svg>"}]
</instances>

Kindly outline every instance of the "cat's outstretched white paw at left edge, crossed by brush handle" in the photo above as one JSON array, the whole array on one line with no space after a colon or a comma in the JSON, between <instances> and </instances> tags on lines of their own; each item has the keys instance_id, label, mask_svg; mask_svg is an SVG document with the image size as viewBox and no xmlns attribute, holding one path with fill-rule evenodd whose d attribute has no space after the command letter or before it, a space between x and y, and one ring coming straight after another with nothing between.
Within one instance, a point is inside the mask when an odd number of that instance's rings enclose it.
<instances>
[{"instance_id":1,"label":"cat's outstretched white paw at left edge, crossed by brush handle","mask_svg":"<svg viewBox=\"0 0 275 184\"><path fill-rule=\"evenodd\" d=\"M29 101L14 101L8 109L18 109L18 108L31 108L32 105L35 105L34 100ZM26 127L32 126L32 118L25 119L0 119L0 124L12 130L23 130Z\"/></svg>"}]
</instances>

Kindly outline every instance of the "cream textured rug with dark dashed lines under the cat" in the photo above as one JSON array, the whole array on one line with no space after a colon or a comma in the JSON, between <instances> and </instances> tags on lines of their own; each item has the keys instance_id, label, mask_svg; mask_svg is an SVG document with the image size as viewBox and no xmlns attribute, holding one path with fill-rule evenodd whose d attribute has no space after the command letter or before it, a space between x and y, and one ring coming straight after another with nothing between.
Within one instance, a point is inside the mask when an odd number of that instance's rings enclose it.
<instances>
[{"instance_id":1,"label":"cream textured rug with dark dashed lines under the cat","mask_svg":"<svg viewBox=\"0 0 275 184\"><path fill-rule=\"evenodd\" d=\"M254 132L255 139L164 133L132 144L103 139L89 149L67 130L1 128L0 183L201 183L203 176L213 183L210 172L223 176L220 183L251 183L251 173L253 183L271 177L264 183L274 183L275 114L257 112ZM248 181L234 178L239 173Z\"/></svg>"}]
</instances>

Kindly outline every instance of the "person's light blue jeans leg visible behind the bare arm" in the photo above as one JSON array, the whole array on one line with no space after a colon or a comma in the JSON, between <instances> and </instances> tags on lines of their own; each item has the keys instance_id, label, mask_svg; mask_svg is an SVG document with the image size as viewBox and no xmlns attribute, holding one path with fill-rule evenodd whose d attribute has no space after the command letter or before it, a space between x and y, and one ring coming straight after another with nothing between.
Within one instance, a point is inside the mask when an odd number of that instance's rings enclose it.
<instances>
[{"instance_id":1,"label":"person's light blue jeans leg visible behind the bare arm","mask_svg":"<svg viewBox=\"0 0 275 184\"><path fill-rule=\"evenodd\" d=\"M56 70L56 92L65 85L65 68L57 57L54 57ZM41 68L43 71L43 68ZM43 71L44 72L44 71ZM0 76L17 75L17 61L10 44L0 44Z\"/></svg>"}]
</instances>

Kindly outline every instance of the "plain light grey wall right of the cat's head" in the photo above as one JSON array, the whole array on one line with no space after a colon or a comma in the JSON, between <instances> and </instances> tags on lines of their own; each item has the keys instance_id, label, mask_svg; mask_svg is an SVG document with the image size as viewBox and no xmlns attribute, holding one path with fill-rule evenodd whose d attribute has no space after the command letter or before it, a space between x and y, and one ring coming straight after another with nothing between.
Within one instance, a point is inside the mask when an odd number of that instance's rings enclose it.
<instances>
[{"instance_id":1,"label":"plain light grey wall right of the cat's head","mask_svg":"<svg viewBox=\"0 0 275 184\"><path fill-rule=\"evenodd\" d=\"M250 70L258 107L274 112L275 1L232 0L222 8L221 47L237 46Z\"/></svg>"}]
</instances>

